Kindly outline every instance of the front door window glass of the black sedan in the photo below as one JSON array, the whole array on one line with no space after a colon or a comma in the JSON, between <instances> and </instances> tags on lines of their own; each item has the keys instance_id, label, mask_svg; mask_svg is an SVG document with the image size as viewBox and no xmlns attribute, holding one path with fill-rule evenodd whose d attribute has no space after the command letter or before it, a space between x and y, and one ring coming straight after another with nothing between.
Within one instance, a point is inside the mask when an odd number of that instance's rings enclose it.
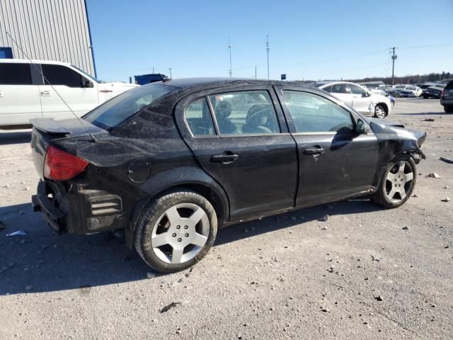
<instances>
[{"instance_id":1,"label":"front door window glass of the black sedan","mask_svg":"<svg viewBox=\"0 0 453 340\"><path fill-rule=\"evenodd\" d=\"M296 132L350 133L354 124L351 115L333 101L300 91L283 91Z\"/></svg>"}]
</instances>

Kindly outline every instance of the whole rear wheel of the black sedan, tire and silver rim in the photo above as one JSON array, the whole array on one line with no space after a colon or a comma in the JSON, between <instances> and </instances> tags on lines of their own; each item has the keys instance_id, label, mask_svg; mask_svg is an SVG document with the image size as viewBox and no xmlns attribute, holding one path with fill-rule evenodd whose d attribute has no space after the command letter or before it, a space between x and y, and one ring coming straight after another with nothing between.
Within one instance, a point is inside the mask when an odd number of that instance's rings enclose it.
<instances>
[{"instance_id":1,"label":"whole rear wheel of the black sedan, tire and silver rim","mask_svg":"<svg viewBox=\"0 0 453 340\"><path fill-rule=\"evenodd\" d=\"M173 273L200 261L216 235L217 215L211 203L194 191L179 189L144 207L134 239L149 266Z\"/></svg>"}]
</instances>

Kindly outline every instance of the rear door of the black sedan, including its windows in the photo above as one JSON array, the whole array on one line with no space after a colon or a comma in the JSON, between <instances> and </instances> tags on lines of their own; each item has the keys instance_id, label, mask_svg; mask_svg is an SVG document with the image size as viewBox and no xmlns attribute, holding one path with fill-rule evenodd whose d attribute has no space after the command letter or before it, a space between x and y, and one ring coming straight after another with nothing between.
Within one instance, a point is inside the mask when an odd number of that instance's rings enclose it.
<instances>
[{"instance_id":1,"label":"rear door of the black sedan, including its windows","mask_svg":"<svg viewBox=\"0 0 453 340\"><path fill-rule=\"evenodd\" d=\"M202 168L226 191L231 220L294 207L297 147L272 87L194 94L176 117Z\"/></svg>"}]
</instances>

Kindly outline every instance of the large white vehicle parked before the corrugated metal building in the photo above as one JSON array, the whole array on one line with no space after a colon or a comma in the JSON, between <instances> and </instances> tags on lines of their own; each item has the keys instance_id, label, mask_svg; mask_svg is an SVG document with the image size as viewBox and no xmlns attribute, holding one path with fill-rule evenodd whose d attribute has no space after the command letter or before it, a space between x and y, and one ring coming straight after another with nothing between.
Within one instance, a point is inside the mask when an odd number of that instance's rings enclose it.
<instances>
[{"instance_id":1,"label":"large white vehicle parked before the corrugated metal building","mask_svg":"<svg viewBox=\"0 0 453 340\"><path fill-rule=\"evenodd\" d=\"M32 118L73 118L68 106L80 117L136 86L103 83L67 62L3 59L0 60L0 128L21 128L20 125L30 125Z\"/></svg>"}]
</instances>

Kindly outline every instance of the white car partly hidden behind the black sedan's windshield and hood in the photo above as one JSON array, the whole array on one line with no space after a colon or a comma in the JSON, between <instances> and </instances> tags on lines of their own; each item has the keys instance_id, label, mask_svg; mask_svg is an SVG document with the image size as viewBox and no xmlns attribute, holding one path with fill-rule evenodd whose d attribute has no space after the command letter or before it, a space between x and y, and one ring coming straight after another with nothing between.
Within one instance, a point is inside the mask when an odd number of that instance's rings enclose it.
<instances>
[{"instance_id":1,"label":"white car partly hidden behind the black sedan's windshield and hood","mask_svg":"<svg viewBox=\"0 0 453 340\"><path fill-rule=\"evenodd\" d=\"M386 118L391 111L391 101L380 94L372 94L359 84L348 81L321 81L314 86L330 92L346 105L354 108L362 115L372 115L377 118Z\"/></svg>"}]
</instances>

